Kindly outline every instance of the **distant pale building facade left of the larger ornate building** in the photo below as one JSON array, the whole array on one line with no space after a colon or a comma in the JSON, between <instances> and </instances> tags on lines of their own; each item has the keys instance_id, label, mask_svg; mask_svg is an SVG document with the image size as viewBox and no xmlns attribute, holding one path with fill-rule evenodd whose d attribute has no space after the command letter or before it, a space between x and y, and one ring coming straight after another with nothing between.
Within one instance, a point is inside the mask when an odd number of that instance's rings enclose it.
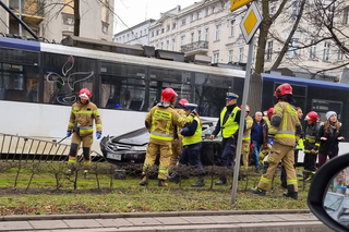
<instances>
[{"instance_id":1,"label":"distant pale building facade left of the larger ornate building","mask_svg":"<svg viewBox=\"0 0 349 232\"><path fill-rule=\"evenodd\" d=\"M149 45L149 27L155 20L144 21L113 35L113 41L125 45Z\"/></svg>"}]
</instances>

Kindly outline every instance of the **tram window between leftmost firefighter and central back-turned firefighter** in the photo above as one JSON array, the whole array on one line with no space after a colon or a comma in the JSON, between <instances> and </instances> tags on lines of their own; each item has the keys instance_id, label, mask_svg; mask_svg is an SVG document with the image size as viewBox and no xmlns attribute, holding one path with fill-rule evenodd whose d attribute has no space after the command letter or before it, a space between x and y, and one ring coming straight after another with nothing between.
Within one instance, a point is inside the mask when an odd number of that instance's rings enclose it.
<instances>
[{"instance_id":1,"label":"tram window between leftmost firefighter and central back-turned firefighter","mask_svg":"<svg viewBox=\"0 0 349 232\"><path fill-rule=\"evenodd\" d=\"M145 71L144 66L101 63L101 108L143 111Z\"/></svg>"}]
</instances>

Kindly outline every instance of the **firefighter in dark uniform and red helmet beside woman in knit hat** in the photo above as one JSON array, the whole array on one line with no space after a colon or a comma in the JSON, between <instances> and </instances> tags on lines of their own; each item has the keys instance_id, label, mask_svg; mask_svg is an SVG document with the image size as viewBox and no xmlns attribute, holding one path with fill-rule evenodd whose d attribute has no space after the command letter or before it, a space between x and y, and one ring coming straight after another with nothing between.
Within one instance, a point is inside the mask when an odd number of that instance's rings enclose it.
<instances>
[{"instance_id":1,"label":"firefighter in dark uniform and red helmet beside woman in knit hat","mask_svg":"<svg viewBox=\"0 0 349 232\"><path fill-rule=\"evenodd\" d=\"M320 147L317 133L320 130L318 115L315 111L310 111L305 119L308 124L304 130L304 172L303 181L310 182L316 171L316 159Z\"/></svg>"}]
</instances>

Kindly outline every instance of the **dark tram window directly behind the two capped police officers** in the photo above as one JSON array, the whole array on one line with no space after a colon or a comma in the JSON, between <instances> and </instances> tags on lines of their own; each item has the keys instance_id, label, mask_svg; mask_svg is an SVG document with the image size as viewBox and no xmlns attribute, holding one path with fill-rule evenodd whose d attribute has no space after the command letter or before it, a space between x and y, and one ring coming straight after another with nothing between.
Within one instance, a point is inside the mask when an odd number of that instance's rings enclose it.
<instances>
[{"instance_id":1,"label":"dark tram window directly behind the two capped police officers","mask_svg":"<svg viewBox=\"0 0 349 232\"><path fill-rule=\"evenodd\" d=\"M219 117L226 106L226 94L231 90L232 77L195 73L194 102L202 117Z\"/></svg>"}]
</instances>

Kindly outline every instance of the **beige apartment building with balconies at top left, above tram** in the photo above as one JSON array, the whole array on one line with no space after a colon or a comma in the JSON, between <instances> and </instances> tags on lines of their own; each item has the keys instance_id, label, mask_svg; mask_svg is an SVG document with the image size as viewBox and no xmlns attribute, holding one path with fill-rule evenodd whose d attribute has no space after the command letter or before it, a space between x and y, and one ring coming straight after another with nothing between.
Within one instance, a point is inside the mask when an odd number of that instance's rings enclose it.
<instances>
[{"instance_id":1,"label":"beige apartment building with balconies at top left, above tram","mask_svg":"<svg viewBox=\"0 0 349 232\"><path fill-rule=\"evenodd\" d=\"M71 0L4 0L3 1L16 15L22 9L22 20L39 37L48 41L60 42L64 37L74 33L74 4ZM81 26L80 36L112 41L115 0L80 1ZM0 9L3 20L0 26L2 34L20 35L19 23ZM32 37L24 28L22 36Z\"/></svg>"}]
</instances>

